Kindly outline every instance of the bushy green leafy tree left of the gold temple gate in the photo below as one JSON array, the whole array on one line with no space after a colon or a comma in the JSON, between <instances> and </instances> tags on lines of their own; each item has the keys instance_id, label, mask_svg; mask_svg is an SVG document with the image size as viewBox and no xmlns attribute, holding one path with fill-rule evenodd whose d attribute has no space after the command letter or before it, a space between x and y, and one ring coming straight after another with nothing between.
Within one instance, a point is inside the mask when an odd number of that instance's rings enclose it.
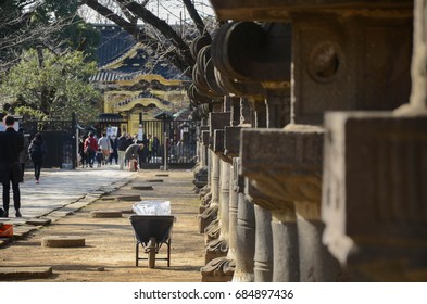
<instances>
[{"instance_id":1,"label":"bushy green leafy tree left of the gold temple gate","mask_svg":"<svg viewBox=\"0 0 427 304\"><path fill-rule=\"evenodd\" d=\"M83 124L99 114L100 92L88 81L96 73L96 62L85 62L83 52L32 49L20 64L4 75L1 91L8 96L16 114L34 118L71 119L75 112Z\"/></svg>"}]
</instances>

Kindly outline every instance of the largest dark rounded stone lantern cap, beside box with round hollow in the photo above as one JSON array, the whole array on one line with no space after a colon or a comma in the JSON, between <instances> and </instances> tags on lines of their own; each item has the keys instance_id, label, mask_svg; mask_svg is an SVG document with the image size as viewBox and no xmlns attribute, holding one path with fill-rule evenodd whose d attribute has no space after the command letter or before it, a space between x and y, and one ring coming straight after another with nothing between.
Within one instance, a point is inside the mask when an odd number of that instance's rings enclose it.
<instances>
[{"instance_id":1,"label":"largest dark rounded stone lantern cap, beside box with round hollow","mask_svg":"<svg viewBox=\"0 0 427 304\"><path fill-rule=\"evenodd\" d=\"M227 23L212 41L212 61L222 75L243 83L289 81L290 40L284 23Z\"/></svg>"}]
</instances>

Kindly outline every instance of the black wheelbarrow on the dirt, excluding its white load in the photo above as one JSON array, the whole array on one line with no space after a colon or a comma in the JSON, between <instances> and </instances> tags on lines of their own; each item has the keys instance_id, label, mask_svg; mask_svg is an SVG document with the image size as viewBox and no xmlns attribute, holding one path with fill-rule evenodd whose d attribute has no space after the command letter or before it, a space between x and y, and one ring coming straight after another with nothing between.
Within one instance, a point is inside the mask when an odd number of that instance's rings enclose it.
<instances>
[{"instance_id":1,"label":"black wheelbarrow on the dirt, excluding its white load","mask_svg":"<svg viewBox=\"0 0 427 304\"><path fill-rule=\"evenodd\" d=\"M136 266L138 267L139 259L148 259L149 268L154 268L155 259L163 259L167 261L167 267L171 267L172 227L175 216L133 214L129 219L136 239ZM139 244L142 245L148 257L139 257ZM167 255L156 258L155 255L163 244L167 246Z\"/></svg>"}]
</instances>

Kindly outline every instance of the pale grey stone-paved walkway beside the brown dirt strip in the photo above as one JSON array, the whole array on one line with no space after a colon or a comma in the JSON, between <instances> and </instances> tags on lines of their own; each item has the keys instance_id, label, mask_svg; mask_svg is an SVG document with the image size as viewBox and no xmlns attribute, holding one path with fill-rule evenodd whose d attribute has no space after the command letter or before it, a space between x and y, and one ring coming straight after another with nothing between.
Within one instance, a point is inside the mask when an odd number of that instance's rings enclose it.
<instances>
[{"instance_id":1,"label":"pale grey stone-paved walkway beside the brown dirt strip","mask_svg":"<svg viewBox=\"0 0 427 304\"><path fill-rule=\"evenodd\" d=\"M32 226L55 221L126 185L135 176L136 173L121 170L117 165L100 168L53 168L42 169L40 183L36 183L33 170L26 169L24 182L20 187L23 216L15 217L11 190L9 218L0 217L0 223L13 224L15 237L23 236L32 230ZM0 245L8 240L0 238Z\"/></svg>"}]
</instances>

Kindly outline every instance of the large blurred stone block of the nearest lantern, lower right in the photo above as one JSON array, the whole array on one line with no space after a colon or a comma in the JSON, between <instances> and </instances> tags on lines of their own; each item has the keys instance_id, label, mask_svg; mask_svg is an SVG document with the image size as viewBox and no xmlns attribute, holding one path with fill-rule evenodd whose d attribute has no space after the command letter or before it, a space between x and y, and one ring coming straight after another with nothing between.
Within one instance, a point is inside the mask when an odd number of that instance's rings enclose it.
<instances>
[{"instance_id":1,"label":"large blurred stone block of the nearest lantern, lower right","mask_svg":"<svg viewBox=\"0 0 427 304\"><path fill-rule=\"evenodd\" d=\"M411 268L427 269L427 116L329 113L325 127L328 249L356 279L419 279Z\"/></svg>"}]
</instances>

